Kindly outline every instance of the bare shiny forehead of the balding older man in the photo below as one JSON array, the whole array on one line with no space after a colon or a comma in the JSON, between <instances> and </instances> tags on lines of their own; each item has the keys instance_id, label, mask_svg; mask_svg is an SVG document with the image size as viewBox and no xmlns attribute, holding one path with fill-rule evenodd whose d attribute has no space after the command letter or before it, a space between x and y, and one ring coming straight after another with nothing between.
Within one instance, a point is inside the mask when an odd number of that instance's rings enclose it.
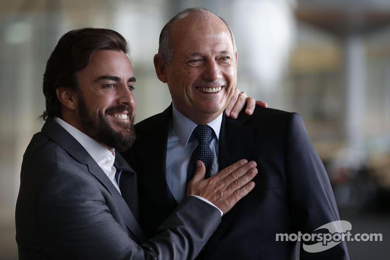
<instances>
[{"instance_id":1,"label":"bare shiny forehead of the balding older man","mask_svg":"<svg viewBox=\"0 0 390 260\"><path fill-rule=\"evenodd\" d=\"M171 31L175 51L190 46L205 48L208 44L233 50L233 40L226 24L213 14L189 15L175 22ZM190 50L188 50L190 51Z\"/></svg>"}]
</instances>

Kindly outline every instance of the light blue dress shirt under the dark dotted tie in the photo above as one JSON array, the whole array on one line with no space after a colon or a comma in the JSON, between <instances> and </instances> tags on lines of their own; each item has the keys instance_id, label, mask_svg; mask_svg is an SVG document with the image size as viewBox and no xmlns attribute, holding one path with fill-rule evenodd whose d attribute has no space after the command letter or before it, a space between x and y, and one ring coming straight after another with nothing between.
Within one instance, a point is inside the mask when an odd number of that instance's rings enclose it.
<instances>
[{"instance_id":1,"label":"light blue dress shirt under the dark dotted tie","mask_svg":"<svg viewBox=\"0 0 390 260\"><path fill-rule=\"evenodd\" d=\"M181 114L173 105L172 122L169 126L167 143L167 184L177 203L184 199L188 164L198 141L192 135L196 123ZM211 176L218 172L218 137L221 129L222 114L208 123L214 133L209 142L213 152Z\"/></svg>"}]
</instances>

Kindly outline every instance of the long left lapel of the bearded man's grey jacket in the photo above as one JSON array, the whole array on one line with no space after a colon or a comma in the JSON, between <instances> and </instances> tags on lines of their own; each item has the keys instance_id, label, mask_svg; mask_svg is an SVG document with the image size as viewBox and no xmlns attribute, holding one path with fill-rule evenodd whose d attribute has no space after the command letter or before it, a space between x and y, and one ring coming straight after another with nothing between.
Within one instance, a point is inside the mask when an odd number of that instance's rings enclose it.
<instances>
[{"instance_id":1,"label":"long left lapel of the bearded man's grey jacket","mask_svg":"<svg viewBox=\"0 0 390 260\"><path fill-rule=\"evenodd\" d=\"M82 164L88 166L89 172L95 176L96 179L110 192L117 206L121 212L121 215L129 228L130 232L134 234L140 241L145 240L145 236L139 226L133 213L130 211L119 194L114 184L108 179L107 175L99 167L98 163L88 154L84 147L73 138L64 128L62 128L56 121L48 118L42 127L42 133L47 137L59 144L66 152L68 152L75 160L78 160Z\"/></svg>"}]
</instances>

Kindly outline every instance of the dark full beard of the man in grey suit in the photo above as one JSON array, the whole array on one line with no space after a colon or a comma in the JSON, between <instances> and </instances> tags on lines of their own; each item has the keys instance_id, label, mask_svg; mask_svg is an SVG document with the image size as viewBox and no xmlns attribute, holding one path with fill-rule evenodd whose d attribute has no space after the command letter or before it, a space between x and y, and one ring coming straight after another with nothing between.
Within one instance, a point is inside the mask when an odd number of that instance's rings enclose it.
<instances>
[{"instance_id":1,"label":"dark full beard of the man in grey suit","mask_svg":"<svg viewBox=\"0 0 390 260\"><path fill-rule=\"evenodd\" d=\"M114 148L119 152L127 150L136 140L136 132L134 130L133 109L126 105L117 105L108 107L104 111L104 115L99 113L90 113L85 99L82 95L78 95L79 117L84 133L89 137L103 143L108 148ZM130 121L117 122L121 127L121 131L115 131L108 120L109 113L118 113L128 111Z\"/></svg>"}]
</instances>

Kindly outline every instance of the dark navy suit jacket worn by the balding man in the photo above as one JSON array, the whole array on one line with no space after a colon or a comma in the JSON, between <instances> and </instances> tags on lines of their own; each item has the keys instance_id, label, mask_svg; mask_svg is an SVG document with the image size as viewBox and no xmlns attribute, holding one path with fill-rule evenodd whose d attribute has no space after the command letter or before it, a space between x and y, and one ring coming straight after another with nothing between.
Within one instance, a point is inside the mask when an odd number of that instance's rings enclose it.
<instances>
[{"instance_id":1,"label":"dark navy suit jacket worn by the balding man","mask_svg":"<svg viewBox=\"0 0 390 260\"><path fill-rule=\"evenodd\" d=\"M172 105L136 124L137 141L123 154L138 175L141 226L148 236L177 205L164 173L171 118ZM252 116L223 115L219 170L240 159L257 163L254 190L222 217L199 259L290 259L294 243L276 241L276 234L312 234L339 220L327 173L298 114L257 106ZM345 242L321 253L301 248L300 254L348 259Z\"/></svg>"}]
</instances>

